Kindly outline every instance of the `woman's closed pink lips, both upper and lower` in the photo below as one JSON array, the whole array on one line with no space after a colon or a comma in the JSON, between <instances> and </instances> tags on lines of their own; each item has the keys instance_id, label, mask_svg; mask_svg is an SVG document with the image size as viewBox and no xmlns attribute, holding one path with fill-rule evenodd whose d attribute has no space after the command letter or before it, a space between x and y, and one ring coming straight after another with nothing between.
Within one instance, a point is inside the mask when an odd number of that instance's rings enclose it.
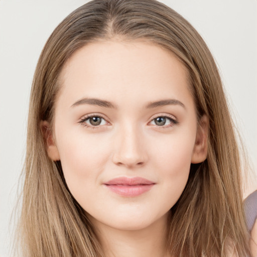
<instances>
[{"instance_id":1,"label":"woman's closed pink lips, both upper and lower","mask_svg":"<svg viewBox=\"0 0 257 257\"><path fill-rule=\"evenodd\" d=\"M120 177L109 180L104 185L116 194L133 197L149 191L155 183L140 177Z\"/></svg>"}]
</instances>

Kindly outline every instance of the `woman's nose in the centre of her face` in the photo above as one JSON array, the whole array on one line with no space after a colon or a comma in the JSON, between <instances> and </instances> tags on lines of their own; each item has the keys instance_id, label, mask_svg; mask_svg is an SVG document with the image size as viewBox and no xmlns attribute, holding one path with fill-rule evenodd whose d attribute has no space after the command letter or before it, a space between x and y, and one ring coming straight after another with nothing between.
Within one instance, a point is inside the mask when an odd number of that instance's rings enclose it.
<instances>
[{"instance_id":1,"label":"woman's nose in the centre of her face","mask_svg":"<svg viewBox=\"0 0 257 257\"><path fill-rule=\"evenodd\" d=\"M145 165L148 160L142 133L137 127L126 126L115 135L112 162L126 168Z\"/></svg>"}]
</instances>

